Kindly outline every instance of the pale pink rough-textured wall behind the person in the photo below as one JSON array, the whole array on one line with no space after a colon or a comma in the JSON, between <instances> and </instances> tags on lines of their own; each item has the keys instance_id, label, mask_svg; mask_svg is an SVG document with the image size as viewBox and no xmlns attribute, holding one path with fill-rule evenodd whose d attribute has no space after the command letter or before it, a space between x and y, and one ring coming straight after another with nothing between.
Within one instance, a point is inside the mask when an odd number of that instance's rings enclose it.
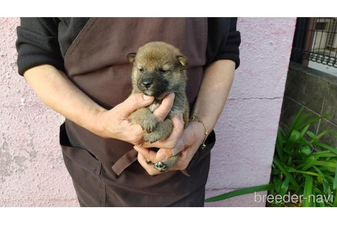
<instances>
[{"instance_id":1,"label":"pale pink rough-textured wall behind the person","mask_svg":"<svg viewBox=\"0 0 337 225\"><path fill-rule=\"evenodd\" d=\"M63 117L16 73L18 19L0 19L0 206L77 206L62 161ZM221 119L206 196L269 181L295 19L239 19L241 66ZM241 196L208 206L261 206Z\"/></svg>"}]
</instances>

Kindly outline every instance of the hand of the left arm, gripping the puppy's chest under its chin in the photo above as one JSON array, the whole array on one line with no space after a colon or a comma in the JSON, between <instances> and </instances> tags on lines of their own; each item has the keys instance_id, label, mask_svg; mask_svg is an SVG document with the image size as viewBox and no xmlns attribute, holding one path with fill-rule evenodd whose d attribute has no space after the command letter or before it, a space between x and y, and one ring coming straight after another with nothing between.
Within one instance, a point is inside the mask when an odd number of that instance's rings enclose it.
<instances>
[{"instance_id":1,"label":"hand of the left arm, gripping the puppy's chest under its chin","mask_svg":"<svg viewBox=\"0 0 337 225\"><path fill-rule=\"evenodd\" d=\"M153 112L153 115L162 121L170 112L175 94L166 95L162 104ZM142 145L144 131L138 124L131 123L127 118L129 115L152 104L154 98L143 94L132 94L124 102L118 104L111 110L99 112L96 117L97 133L101 137L119 139L134 145Z\"/></svg>"}]
</instances>

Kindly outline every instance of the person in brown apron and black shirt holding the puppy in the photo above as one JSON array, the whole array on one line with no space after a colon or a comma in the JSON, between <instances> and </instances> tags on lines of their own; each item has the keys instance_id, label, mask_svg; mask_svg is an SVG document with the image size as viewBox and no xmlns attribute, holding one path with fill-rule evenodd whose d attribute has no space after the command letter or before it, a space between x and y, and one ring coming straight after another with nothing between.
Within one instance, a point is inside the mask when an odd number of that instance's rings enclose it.
<instances>
[{"instance_id":1,"label":"person in brown apron and black shirt holding the puppy","mask_svg":"<svg viewBox=\"0 0 337 225\"><path fill-rule=\"evenodd\" d=\"M81 206L203 206L213 128L240 62L236 21L21 19L18 73L42 102L66 117L60 144ZM128 117L154 99L131 94L126 56L152 41L177 47L188 60L190 121L184 128L182 114L175 115L166 139L146 143L142 127ZM153 111L157 121L164 121L174 101L175 93L162 99ZM178 153L167 172L148 163Z\"/></svg>"}]
</instances>

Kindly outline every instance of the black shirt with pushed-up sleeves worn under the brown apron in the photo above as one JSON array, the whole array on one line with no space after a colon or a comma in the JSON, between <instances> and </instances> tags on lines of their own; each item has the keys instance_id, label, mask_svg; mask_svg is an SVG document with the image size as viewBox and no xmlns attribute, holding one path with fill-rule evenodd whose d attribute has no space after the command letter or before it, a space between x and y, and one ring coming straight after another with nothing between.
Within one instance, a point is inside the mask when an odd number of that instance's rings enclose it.
<instances>
[{"instance_id":1,"label":"black shirt with pushed-up sleeves worn under the brown apron","mask_svg":"<svg viewBox=\"0 0 337 225\"><path fill-rule=\"evenodd\" d=\"M89 18L22 18L17 27L18 73L40 64L64 71L64 56ZM240 64L236 18L209 18L206 64L221 59Z\"/></svg>"}]
</instances>

